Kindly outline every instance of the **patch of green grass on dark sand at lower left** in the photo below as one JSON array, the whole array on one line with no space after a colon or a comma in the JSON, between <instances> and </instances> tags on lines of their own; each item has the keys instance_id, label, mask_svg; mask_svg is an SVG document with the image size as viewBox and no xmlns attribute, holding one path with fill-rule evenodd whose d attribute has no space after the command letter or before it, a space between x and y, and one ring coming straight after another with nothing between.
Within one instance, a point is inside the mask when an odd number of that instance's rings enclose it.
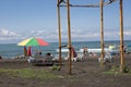
<instances>
[{"instance_id":1,"label":"patch of green grass on dark sand at lower left","mask_svg":"<svg viewBox=\"0 0 131 87\"><path fill-rule=\"evenodd\" d=\"M45 71L45 70L35 71L32 69L22 69L22 70L0 69L0 74L7 74L11 77L22 77L22 78L39 78L39 79L60 78L59 75L53 75L49 71Z\"/></svg>"}]
</instances>

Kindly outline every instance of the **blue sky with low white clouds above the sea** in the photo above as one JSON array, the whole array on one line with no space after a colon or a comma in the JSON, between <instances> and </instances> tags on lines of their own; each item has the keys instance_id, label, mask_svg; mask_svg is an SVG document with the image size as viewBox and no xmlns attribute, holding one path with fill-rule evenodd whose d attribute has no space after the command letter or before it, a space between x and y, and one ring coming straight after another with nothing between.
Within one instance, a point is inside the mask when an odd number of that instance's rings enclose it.
<instances>
[{"instance_id":1,"label":"blue sky with low white clouds above the sea","mask_svg":"<svg viewBox=\"0 0 131 87\"><path fill-rule=\"evenodd\" d=\"M108 1L108 0L105 0ZM70 0L96 4L99 0ZM123 0L123 38L131 40L131 0ZM68 41L67 8L60 8L61 37ZM57 0L0 0L0 44L39 37L58 42ZM100 40L100 9L70 8L72 41ZM104 40L120 39L119 0L104 7Z\"/></svg>"}]
</instances>

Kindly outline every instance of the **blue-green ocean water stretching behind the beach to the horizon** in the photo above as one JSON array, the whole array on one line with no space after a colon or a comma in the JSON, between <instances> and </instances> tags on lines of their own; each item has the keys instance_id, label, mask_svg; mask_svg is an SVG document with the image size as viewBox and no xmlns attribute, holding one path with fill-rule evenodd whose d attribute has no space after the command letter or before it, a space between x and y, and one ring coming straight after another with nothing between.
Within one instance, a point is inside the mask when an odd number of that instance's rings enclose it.
<instances>
[{"instance_id":1,"label":"blue-green ocean water stretching behind the beach to the horizon","mask_svg":"<svg viewBox=\"0 0 131 87\"><path fill-rule=\"evenodd\" d=\"M124 40L124 46L131 45L131 40ZM67 45L67 42L62 42L62 45ZM119 46L119 40L111 40L111 41L105 41L105 46L109 45L116 45ZM100 41L74 41L72 42L72 46L76 51L79 51L81 48L87 47L87 48L100 48ZM32 53L35 53L36 50L41 50L43 54L46 54L47 52L50 52L52 54L58 54L56 49L58 49L59 44L58 42L49 42L49 46L45 47L32 47ZM24 54L22 46L17 46L16 44L0 44L0 55L4 59L12 59L16 55Z\"/></svg>"}]
</instances>

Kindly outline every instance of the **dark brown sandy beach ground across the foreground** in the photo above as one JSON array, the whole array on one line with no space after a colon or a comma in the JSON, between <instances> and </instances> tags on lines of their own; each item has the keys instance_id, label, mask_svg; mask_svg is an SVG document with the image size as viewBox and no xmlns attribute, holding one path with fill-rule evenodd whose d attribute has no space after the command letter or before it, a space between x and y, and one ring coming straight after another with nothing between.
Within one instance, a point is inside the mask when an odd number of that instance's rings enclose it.
<instances>
[{"instance_id":1,"label":"dark brown sandy beach ground across the foreground","mask_svg":"<svg viewBox=\"0 0 131 87\"><path fill-rule=\"evenodd\" d=\"M72 75L69 75L69 62L62 61L61 70L52 70L53 66L34 66L27 59L0 60L0 70L34 71L33 77L0 72L1 87L130 87L131 85L131 54L124 54L124 64L130 73L108 73L120 65L120 55L115 55L114 62L99 66L97 57L85 57L83 61L72 62ZM44 73L48 72L48 73ZM43 72L43 73L40 73ZM33 73L33 72L32 72ZM41 78L39 75L46 75Z\"/></svg>"}]
</instances>

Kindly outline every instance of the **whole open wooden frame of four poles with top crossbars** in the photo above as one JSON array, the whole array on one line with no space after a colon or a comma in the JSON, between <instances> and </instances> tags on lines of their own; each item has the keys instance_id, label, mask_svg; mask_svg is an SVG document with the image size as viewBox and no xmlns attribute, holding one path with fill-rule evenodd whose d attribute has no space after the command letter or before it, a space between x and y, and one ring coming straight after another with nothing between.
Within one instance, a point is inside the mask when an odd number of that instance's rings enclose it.
<instances>
[{"instance_id":1,"label":"whole open wooden frame of four poles with top crossbars","mask_svg":"<svg viewBox=\"0 0 131 87\"><path fill-rule=\"evenodd\" d=\"M59 30L59 65L61 69L61 22L60 22L60 7L67 7L68 12L68 48L69 48L69 74L72 74L72 61L71 61L71 25L70 25L70 8L100 8L100 47L102 47L102 63L104 64L104 18L103 18L103 7L111 4L112 2L120 1L120 71L124 69L123 60L123 17L122 17L122 0L99 0L97 4L71 4L70 0L57 0L57 13L58 13L58 30Z\"/></svg>"}]
</instances>

